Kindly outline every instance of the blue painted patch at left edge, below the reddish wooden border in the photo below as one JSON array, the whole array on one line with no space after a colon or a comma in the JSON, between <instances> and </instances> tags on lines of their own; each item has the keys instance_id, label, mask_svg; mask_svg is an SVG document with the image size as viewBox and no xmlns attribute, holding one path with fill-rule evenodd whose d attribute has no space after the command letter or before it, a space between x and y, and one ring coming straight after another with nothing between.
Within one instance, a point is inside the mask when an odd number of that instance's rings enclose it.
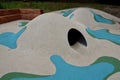
<instances>
[{"instance_id":1,"label":"blue painted patch at left edge, below the reddish wooden border","mask_svg":"<svg viewBox=\"0 0 120 80\"><path fill-rule=\"evenodd\" d=\"M16 34L12 32L5 32L0 34L0 44L7 46L11 49L17 48L17 39L20 37L20 35L25 31L26 27L22 28L19 32Z\"/></svg>"}]
</instances>

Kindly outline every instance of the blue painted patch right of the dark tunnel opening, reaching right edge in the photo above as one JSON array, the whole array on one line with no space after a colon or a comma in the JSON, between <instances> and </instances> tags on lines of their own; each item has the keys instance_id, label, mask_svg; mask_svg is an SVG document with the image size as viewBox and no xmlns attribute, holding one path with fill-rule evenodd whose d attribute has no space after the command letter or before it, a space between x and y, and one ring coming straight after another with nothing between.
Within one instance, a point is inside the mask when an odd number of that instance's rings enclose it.
<instances>
[{"instance_id":1,"label":"blue painted patch right of the dark tunnel opening, reaching right edge","mask_svg":"<svg viewBox=\"0 0 120 80\"><path fill-rule=\"evenodd\" d=\"M120 35L112 34L107 29L91 30L90 28L87 28L86 31L95 38L109 40L120 45Z\"/></svg>"}]
</instances>

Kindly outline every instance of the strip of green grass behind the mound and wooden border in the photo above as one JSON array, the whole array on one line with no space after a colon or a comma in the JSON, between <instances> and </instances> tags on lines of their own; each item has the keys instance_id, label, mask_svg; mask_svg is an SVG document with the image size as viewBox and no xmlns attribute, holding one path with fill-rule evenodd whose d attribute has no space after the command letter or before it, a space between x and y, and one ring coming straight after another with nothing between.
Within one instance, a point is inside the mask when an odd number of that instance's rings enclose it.
<instances>
[{"instance_id":1,"label":"strip of green grass behind the mound and wooden border","mask_svg":"<svg viewBox=\"0 0 120 80\"><path fill-rule=\"evenodd\" d=\"M11 1L11 2L2 2L2 7L5 9L20 9L20 8L35 8L42 9L44 12L56 11L67 8L75 7L91 7L95 9L103 9L108 5L101 5L98 3L65 3L65 2L22 2L22 1Z\"/></svg>"}]
</instances>

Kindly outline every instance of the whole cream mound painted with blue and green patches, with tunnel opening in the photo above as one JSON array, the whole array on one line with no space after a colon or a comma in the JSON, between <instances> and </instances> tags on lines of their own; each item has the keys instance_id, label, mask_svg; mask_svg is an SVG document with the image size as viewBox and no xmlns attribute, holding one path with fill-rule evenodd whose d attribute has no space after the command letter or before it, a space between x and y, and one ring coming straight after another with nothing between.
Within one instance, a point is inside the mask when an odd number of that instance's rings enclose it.
<instances>
[{"instance_id":1,"label":"whole cream mound painted with blue and green patches, with tunnel opening","mask_svg":"<svg viewBox=\"0 0 120 80\"><path fill-rule=\"evenodd\" d=\"M105 12L74 8L2 26L0 80L118 80L119 23Z\"/></svg>"}]
</instances>

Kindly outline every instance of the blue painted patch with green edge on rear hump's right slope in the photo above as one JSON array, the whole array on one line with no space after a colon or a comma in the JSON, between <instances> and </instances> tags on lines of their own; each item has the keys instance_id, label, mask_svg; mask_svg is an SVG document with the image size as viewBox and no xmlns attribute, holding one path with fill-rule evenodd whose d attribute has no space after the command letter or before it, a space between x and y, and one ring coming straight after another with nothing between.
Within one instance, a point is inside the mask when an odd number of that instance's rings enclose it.
<instances>
[{"instance_id":1,"label":"blue painted patch with green edge on rear hump's right slope","mask_svg":"<svg viewBox=\"0 0 120 80\"><path fill-rule=\"evenodd\" d=\"M91 11L91 10L90 10ZM110 20L110 19L106 19L104 17L102 17L101 15L99 14L96 14L95 12L91 11L94 15L94 19L97 21L97 22L101 22L101 23L105 23L105 24L115 24L115 22L113 20Z\"/></svg>"}]
</instances>

